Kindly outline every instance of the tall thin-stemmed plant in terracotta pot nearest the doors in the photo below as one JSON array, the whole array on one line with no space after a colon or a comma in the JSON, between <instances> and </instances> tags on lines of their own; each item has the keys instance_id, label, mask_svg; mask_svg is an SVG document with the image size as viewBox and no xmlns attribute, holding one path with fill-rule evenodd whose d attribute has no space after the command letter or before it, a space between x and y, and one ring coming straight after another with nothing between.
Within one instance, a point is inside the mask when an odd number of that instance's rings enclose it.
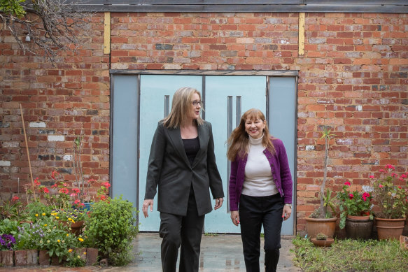
<instances>
[{"instance_id":1,"label":"tall thin-stemmed plant in terracotta pot nearest the doors","mask_svg":"<svg viewBox=\"0 0 408 272\"><path fill-rule=\"evenodd\" d=\"M332 238L335 234L337 217L335 216L335 205L332 196L332 190L326 189L325 185L328 176L328 164L329 164L329 144L330 138L335 134L330 133L331 128L323 127L323 135L321 138L325 139L325 157L323 165L323 182L320 188L320 206L309 217L306 218L307 236L314 238L318 233L323 233ZM332 210L328 210L328 208Z\"/></svg>"}]
</instances>

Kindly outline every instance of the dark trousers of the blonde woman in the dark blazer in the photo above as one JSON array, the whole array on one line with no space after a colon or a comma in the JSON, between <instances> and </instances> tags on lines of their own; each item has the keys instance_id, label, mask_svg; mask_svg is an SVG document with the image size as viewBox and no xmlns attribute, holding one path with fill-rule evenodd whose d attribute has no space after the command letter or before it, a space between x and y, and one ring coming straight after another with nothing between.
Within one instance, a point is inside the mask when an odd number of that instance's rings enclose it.
<instances>
[{"instance_id":1,"label":"dark trousers of the blonde woman in the dark blazer","mask_svg":"<svg viewBox=\"0 0 408 272\"><path fill-rule=\"evenodd\" d=\"M190 190L185 216L160 213L160 237L162 240L162 269L176 272L178 248L180 250L180 272L197 272L199 252L205 215L198 216L194 192Z\"/></svg>"}]
</instances>

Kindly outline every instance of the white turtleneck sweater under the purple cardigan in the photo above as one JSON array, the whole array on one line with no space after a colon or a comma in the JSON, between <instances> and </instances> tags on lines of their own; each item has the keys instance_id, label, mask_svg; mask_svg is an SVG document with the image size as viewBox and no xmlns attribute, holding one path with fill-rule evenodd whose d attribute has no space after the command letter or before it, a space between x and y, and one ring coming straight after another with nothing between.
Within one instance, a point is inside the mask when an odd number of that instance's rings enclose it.
<instances>
[{"instance_id":1,"label":"white turtleneck sweater under the purple cardigan","mask_svg":"<svg viewBox=\"0 0 408 272\"><path fill-rule=\"evenodd\" d=\"M247 196L272 196L279 191L272 177L271 166L263 151L262 137L249 136L248 160L245 165L245 180L242 194Z\"/></svg>"}]
</instances>

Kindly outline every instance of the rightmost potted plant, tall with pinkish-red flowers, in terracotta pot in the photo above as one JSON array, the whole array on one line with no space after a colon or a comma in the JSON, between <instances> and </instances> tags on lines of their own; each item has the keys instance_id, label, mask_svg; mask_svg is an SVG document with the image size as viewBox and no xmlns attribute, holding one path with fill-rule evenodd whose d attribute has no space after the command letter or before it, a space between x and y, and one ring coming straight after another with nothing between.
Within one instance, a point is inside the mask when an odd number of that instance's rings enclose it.
<instances>
[{"instance_id":1,"label":"rightmost potted plant, tall with pinkish-red flowers, in terracotta pot","mask_svg":"<svg viewBox=\"0 0 408 272\"><path fill-rule=\"evenodd\" d=\"M402 187L402 183L408 173L398 176L393 172L394 170L394 166L387 164L386 169L379 170L380 178L370 176L373 198L377 206L375 221L380 240L398 239L405 227L408 192Z\"/></svg>"}]
</instances>

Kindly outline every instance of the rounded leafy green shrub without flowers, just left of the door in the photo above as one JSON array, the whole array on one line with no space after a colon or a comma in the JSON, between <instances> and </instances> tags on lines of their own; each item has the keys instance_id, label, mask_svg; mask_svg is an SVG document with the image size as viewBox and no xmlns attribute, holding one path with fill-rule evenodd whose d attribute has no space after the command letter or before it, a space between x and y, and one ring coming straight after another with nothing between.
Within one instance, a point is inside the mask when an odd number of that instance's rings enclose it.
<instances>
[{"instance_id":1,"label":"rounded leafy green shrub without flowers, just left of the door","mask_svg":"<svg viewBox=\"0 0 408 272\"><path fill-rule=\"evenodd\" d=\"M136 213L132 202L122 200L122 196L94 203L85 217L84 236L88 247L98 248L115 266L131 262L132 239L139 231Z\"/></svg>"}]
</instances>

